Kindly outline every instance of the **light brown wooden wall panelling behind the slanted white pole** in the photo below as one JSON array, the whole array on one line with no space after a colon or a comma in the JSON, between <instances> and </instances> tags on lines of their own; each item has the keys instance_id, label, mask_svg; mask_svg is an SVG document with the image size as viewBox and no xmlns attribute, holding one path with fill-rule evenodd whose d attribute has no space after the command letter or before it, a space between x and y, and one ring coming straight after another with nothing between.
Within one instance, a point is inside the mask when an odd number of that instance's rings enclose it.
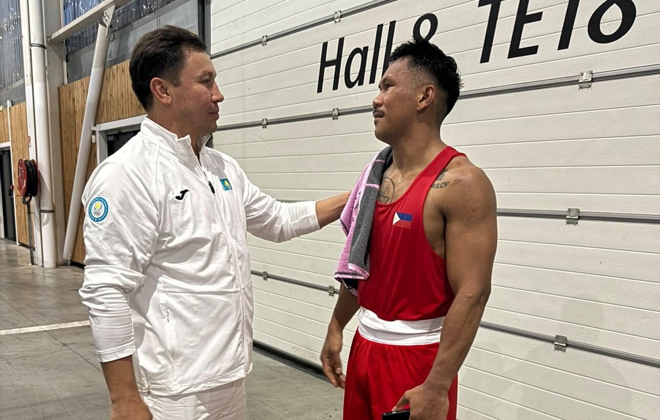
<instances>
[{"instance_id":1,"label":"light brown wooden wall panelling behind the slanted white pole","mask_svg":"<svg viewBox=\"0 0 660 420\"><path fill-rule=\"evenodd\" d=\"M124 61L106 69L104 74L101 96L96 112L96 124L107 123L144 115L133 89L128 72L129 61ZM82 132L82 119L87 100L89 77L66 84L59 88L59 118L62 154L62 182L64 183L64 200L66 220L69 219L71 208L71 193L73 179L78 161L78 148ZM92 144L89 164L87 165L87 179L96 168L96 144ZM76 203L78 205L79 203ZM71 260L82 264L84 260L84 243L82 240L82 221L84 212L78 221L78 231Z\"/></svg>"}]
</instances>

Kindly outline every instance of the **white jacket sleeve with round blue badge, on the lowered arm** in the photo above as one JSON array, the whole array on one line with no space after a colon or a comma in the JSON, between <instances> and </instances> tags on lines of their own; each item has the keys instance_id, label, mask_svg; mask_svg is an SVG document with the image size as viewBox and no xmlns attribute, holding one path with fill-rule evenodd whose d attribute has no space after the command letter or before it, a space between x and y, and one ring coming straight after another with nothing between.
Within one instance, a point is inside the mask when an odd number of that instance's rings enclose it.
<instances>
[{"instance_id":1,"label":"white jacket sleeve with round blue badge, on the lowered arm","mask_svg":"<svg viewBox=\"0 0 660 420\"><path fill-rule=\"evenodd\" d=\"M82 195L86 256L79 293L88 308L100 361L135 353L127 295L145 280L158 237L156 181L125 165L104 162Z\"/></svg>"}]
</instances>

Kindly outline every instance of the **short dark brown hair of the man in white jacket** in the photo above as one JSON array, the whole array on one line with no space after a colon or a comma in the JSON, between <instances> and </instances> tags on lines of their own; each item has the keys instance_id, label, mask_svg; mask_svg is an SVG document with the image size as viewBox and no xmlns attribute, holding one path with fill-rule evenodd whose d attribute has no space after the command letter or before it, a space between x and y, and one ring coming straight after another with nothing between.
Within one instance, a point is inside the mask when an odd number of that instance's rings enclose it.
<instances>
[{"instance_id":1,"label":"short dark brown hair of the man in white jacket","mask_svg":"<svg viewBox=\"0 0 660 420\"><path fill-rule=\"evenodd\" d=\"M152 78L164 78L178 85L189 53L206 50L199 36L177 26L163 26L143 35L133 48L129 73L133 92L145 110L153 104Z\"/></svg>"}]
</instances>

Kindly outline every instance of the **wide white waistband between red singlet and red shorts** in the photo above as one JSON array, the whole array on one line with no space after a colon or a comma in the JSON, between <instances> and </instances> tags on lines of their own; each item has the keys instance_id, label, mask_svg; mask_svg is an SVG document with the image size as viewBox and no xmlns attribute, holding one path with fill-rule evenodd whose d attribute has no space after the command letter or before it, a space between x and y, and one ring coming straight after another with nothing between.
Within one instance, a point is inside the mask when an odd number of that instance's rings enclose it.
<instances>
[{"instance_id":1,"label":"wide white waistband between red singlet and red shorts","mask_svg":"<svg viewBox=\"0 0 660 420\"><path fill-rule=\"evenodd\" d=\"M368 309L360 308L360 335L381 344L420 345L440 342L444 316L420 321L385 321Z\"/></svg>"}]
</instances>

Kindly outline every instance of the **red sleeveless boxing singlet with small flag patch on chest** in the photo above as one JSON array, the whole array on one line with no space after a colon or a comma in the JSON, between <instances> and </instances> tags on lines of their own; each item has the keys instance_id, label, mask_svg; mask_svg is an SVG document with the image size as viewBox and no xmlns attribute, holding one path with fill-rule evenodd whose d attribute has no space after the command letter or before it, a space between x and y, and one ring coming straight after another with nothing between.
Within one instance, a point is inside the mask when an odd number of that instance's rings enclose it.
<instances>
[{"instance_id":1,"label":"red sleeveless boxing singlet with small flag patch on chest","mask_svg":"<svg viewBox=\"0 0 660 420\"><path fill-rule=\"evenodd\" d=\"M360 282L358 303L382 320L426 320L447 315L454 299L445 261L424 233L424 202L440 172L456 156L447 146L395 202L376 203L369 278Z\"/></svg>"}]
</instances>

